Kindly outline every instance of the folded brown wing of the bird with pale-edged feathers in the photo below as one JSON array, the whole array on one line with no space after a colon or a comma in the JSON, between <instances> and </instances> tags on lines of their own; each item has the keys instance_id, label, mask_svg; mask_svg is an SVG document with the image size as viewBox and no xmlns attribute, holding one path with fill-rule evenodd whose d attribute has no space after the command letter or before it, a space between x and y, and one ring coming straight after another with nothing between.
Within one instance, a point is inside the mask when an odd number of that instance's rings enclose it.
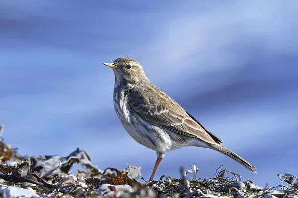
<instances>
[{"instance_id":1,"label":"folded brown wing of the bird with pale-edged feathers","mask_svg":"<svg viewBox=\"0 0 298 198\"><path fill-rule=\"evenodd\" d=\"M154 85L149 86L145 92L130 91L128 102L131 109L148 122L184 136L199 138L210 144L223 143Z\"/></svg>"}]
</instances>

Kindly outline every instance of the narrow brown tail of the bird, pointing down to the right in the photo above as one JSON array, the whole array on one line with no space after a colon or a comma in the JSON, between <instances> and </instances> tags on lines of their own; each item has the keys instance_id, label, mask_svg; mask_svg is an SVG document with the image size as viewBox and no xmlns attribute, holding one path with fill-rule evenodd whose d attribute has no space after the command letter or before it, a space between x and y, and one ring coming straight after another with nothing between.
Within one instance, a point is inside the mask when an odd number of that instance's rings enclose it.
<instances>
[{"instance_id":1,"label":"narrow brown tail of the bird, pointing down to the right","mask_svg":"<svg viewBox=\"0 0 298 198\"><path fill-rule=\"evenodd\" d=\"M242 157L240 157L236 153L234 153L231 150L225 148L224 146L216 145L216 144L210 144L209 146L211 147L211 149L216 150L218 152L221 152L221 153L225 154L226 156L229 156L230 158L234 159L235 161L240 163L242 166L249 169L251 172L257 173L254 170L256 167L254 167L251 163L249 163L248 161L246 161L245 159L243 159Z\"/></svg>"}]
</instances>

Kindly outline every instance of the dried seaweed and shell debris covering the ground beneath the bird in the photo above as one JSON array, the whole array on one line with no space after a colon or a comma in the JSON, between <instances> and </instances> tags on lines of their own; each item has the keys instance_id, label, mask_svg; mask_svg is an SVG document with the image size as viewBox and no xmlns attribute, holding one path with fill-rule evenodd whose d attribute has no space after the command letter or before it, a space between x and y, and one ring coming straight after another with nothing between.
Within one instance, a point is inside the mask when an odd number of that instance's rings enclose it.
<instances>
[{"instance_id":1,"label":"dried seaweed and shell debris covering the ground beneath the bird","mask_svg":"<svg viewBox=\"0 0 298 198\"><path fill-rule=\"evenodd\" d=\"M0 127L0 136L3 126ZM70 172L75 164L84 170ZM198 168L180 168L181 178L163 175L157 181L141 178L141 167L131 166L98 169L86 151L77 148L66 157L57 155L23 157L17 149L0 137L0 197L44 198L298 198L297 177L278 174L280 185L263 188L252 181L242 181L239 174L227 170L216 171L212 178L197 179ZM187 174L193 174L187 179ZM143 180L143 181L142 181Z\"/></svg>"}]
</instances>

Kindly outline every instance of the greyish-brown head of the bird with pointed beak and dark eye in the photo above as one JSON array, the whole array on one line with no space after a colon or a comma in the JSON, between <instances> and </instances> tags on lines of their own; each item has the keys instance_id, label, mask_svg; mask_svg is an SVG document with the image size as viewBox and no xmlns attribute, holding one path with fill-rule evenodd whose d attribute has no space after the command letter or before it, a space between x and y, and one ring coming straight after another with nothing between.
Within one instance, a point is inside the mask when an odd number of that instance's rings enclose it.
<instances>
[{"instance_id":1,"label":"greyish-brown head of the bird with pointed beak and dark eye","mask_svg":"<svg viewBox=\"0 0 298 198\"><path fill-rule=\"evenodd\" d=\"M148 80L142 65L132 58L117 58L113 63L103 64L113 68L116 82L142 82Z\"/></svg>"}]
</instances>

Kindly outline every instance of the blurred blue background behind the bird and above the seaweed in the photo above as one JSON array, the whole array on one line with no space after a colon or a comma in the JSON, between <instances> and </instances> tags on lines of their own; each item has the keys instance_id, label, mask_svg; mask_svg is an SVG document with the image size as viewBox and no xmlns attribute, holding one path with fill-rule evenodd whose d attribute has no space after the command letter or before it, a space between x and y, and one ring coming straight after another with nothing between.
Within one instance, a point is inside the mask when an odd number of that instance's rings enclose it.
<instances>
[{"instance_id":1,"label":"blurred blue background behind the bird and above the seaweed","mask_svg":"<svg viewBox=\"0 0 298 198\"><path fill-rule=\"evenodd\" d=\"M295 0L1 0L3 137L23 155L80 147L101 169L129 163L149 179L156 154L122 128L102 65L127 56L258 172L188 147L166 153L155 179L193 164L209 178L223 165L281 184L280 172L298 176L297 18Z\"/></svg>"}]
</instances>

